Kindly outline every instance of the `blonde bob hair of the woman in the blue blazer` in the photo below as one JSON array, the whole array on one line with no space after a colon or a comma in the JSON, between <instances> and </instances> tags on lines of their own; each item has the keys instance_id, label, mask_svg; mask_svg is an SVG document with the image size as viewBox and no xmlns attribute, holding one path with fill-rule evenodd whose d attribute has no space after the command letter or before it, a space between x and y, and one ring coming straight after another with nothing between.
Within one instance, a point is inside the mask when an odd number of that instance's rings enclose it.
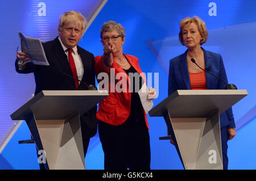
<instances>
[{"instance_id":1,"label":"blonde bob hair of the woman in the blue blazer","mask_svg":"<svg viewBox=\"0 0 256 181\"><path fill-rule=\"evenodd\" d=\"M199 29L200 35L203 37L203 40L200 41L200 45L204 44L208 39L208 31L207 27L205 26L205 23L202 19L200 19L198 16L193 16L192 18L187 17L180 21L180 32L179 32L179 40L180 43L184 44L183 35L182 35L182 29L185 26L185 24L188 23L196 23L197 27Z\"/></svg>"}]
</instances>

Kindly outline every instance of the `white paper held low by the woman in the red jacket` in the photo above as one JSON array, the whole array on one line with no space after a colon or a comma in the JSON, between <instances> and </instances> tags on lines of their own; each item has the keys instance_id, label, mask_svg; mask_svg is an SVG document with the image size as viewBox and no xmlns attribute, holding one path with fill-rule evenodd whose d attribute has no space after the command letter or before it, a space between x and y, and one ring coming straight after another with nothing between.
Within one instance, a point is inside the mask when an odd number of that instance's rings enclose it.
<instances>
[{"instance_id":1,"label":"white paper held low by the woman in the red jacket","mask_svg":"<svg viewBox=\"0 0 256 181\"><path fill-rule=\"evenodd\" d=\"M146 86L146 83L143 83L141 90L139 90L139 98L141 99L142 107L144 108L144 111L148 113L148 111L151 110L153 107L154 103L152 102L152 99L147 99L148 95L148 89Z\"/></svg>"}]
</instances>

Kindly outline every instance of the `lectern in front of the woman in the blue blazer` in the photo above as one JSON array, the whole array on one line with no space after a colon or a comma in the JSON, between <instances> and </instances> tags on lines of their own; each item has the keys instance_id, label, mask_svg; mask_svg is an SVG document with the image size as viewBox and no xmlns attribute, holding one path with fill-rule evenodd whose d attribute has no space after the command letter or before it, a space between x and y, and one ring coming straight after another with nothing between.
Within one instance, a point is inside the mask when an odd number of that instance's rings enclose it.
<instances>
[{"instance_id":1,"label":"lectern in front of the woman in the blue blazer","mask_svg":"<svg viewBox=\"0 0 256 181\"><path fill-rule=\"evenodd\" d=\"M163 116L184 169L223 169L220 115L246 90L177 90L149 111Z\"/></svg>"}]
</instances>

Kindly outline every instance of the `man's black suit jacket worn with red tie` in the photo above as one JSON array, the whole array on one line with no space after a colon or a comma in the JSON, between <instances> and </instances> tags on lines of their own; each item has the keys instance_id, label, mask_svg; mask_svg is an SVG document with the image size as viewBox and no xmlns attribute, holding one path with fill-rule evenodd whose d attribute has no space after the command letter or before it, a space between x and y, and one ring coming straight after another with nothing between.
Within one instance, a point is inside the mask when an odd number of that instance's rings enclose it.
<instances>
[{"instance_id":1,"label":"man's black suit jacket worn with red tie","mask_svg":"<svg viewBox=\"0 0 256 181\"><path fill-rule=\"evenodd\" d=\"M49 66L34 65L28 62L24 65L23 70L19 70L18 60L16 60L16 71L23 74L34 73L36 83L35 95L42 90L76 90L74 79L61 73L61 71L64 71L73 76L68 57L61 47L59 39L56 37L56 39L42 44ZM84 75L81 81L87 85L95 86L95 62L93 54L79 46L77 46L77 52L79 52L82 64L84 65ZM88 87L80 83L78 90L88 90ZM83 138L92 137L96 134L96 112L97 106L80 116Z\"/></svg>"}]
</instances>

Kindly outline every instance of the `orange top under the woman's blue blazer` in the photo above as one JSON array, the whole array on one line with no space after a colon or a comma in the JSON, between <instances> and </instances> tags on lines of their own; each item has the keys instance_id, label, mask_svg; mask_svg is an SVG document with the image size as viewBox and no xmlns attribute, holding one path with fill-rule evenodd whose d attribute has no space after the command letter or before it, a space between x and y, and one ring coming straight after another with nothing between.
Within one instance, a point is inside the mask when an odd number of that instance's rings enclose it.
<instances>
[{"instance_id":1,"label":"orange top under the woman's blue blazer","mask_svg":"<svg viewBox=\"0 0 256 181\"><path fill-rule=\"evenodd\" d=\"M207 90L207 83L205 78L205 71L197 73L189 72L191 90Z\"/></svg>"}]
</instances>

